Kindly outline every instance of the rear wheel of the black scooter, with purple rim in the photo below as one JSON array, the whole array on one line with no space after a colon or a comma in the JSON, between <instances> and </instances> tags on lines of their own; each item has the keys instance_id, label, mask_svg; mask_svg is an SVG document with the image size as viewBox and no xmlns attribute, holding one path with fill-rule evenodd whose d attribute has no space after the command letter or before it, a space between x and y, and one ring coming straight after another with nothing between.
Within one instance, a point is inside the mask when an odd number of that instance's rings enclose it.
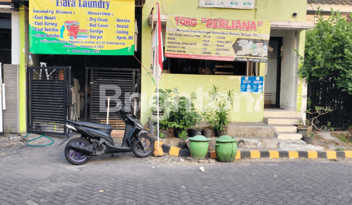
<instances>
[{"instance_id":1,"label":"rear wheel of the black scooter, with purple rim","mask_svg":"<svg viewBox=\"0 0 352 205\"><path fill-rule=\"evenodd\" d=\"M70 140L65 147L65 157L69 163L74 165L80 165L88 162L89 158L87 155L74 151L68 147L70 143L79 144L81 146L88 146L91 143L85 138L74 138Z\"/></svg>"}]
</instances>

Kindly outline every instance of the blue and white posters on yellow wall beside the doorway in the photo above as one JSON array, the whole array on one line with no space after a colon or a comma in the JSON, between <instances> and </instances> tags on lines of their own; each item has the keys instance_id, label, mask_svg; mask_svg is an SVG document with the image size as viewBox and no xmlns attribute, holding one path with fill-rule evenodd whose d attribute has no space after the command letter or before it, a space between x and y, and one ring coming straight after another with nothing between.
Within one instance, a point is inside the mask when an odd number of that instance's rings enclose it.
<instances>
[{"instance_id":1,"label":"blue and white posters on yellow wall beside the doorway","mask_svg":"<svg viewBox=\"0 0 352 205\"><path fill-rule=\"evenodd\" d=\"M241 92L263 93L263 76L243 76L241 77Z\"/></svg>"}]
</instances>

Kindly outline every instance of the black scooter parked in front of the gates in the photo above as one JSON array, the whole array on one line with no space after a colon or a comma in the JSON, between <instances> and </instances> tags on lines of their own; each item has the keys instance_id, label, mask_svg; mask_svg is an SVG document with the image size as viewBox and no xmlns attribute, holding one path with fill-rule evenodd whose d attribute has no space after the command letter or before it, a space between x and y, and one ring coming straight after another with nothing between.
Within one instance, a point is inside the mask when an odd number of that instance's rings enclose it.
<instances>
[{"instance_id":1,"label":"black scooter parked in front of the gates","mask_svg":"<svg viewBox=\"0 0 352 205\"><path fill-rule=\"evenodd\" d=\"M149 135L151 132L143 129L137 117L128 114L125 106L117 111L126 123L125 134L121 147L116 147L110 136L112 127L110 124L73 122L67 120L66 127L72 132L61 143L65 143L73 135L81 137L70 140L65 147L66 160L75 165L85 164L91 156L133 152L137 157L148 157L154 151L154 139ZM59 144L59 146L61 145Z\"/></svg>"}]
</instances>

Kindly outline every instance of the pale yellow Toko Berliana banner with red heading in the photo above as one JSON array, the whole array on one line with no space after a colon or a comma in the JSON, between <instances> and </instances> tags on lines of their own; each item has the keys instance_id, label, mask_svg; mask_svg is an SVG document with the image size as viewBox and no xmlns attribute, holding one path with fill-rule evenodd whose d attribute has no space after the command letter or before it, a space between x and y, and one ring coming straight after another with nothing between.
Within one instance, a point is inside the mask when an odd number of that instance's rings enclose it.
<instances>
[{"instance_id":1,"label":"pale yellow Toko Berliana banner with red heading","mask_svg":"<svg viewBox=\"0 0 352 205\"><path fill-rule=\"evenodd\" d=\"M270 21L168 16L165 57L266 62Z\"/></svg>"}]
</instances>

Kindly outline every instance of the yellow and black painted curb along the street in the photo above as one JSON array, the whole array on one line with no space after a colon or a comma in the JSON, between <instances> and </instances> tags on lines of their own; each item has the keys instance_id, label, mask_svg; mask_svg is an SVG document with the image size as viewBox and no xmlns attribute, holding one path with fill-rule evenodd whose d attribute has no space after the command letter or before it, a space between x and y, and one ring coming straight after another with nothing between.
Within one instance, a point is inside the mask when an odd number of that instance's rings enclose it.
<instances>
[{"instance_id":1,"label":"yellow and black painted curb along the street","mask_svg":"<svg viewBox=\"0 0 352 205\"><path fill-rule=\"evenodd\" d=\"M188 149L180 149L175 146L170 146L167 144L161 145L162 150L166 154L188 157L191 156L191 152ZM210 152L210 158L216 159L215 151ZM235 159L255 159L255 158L268 158L268 159L277 159L277 158L307 158L307 159L336 159L336 158L352 158L352 151L283 151L283 150L237 150Z\"/></svg>"}]
</instances>

